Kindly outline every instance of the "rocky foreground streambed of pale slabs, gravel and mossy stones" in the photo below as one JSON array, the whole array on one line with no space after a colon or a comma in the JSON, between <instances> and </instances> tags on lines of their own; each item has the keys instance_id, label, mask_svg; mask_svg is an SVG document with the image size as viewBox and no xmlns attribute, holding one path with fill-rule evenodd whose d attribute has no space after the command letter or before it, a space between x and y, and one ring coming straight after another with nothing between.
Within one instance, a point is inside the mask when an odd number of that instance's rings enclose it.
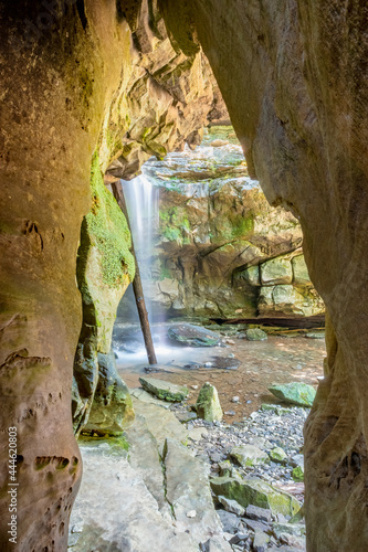
<instances>
[{"instance_id":1,"label":"rocky foreground streambed of pale slabs, gravel and mossy stones","mask_svg":"<svg viewBox=\"0 0 368 552\"><path fill-rule=\"evenodd\" d=\"M124 436L80 442L84 478L71 550L305 550L308 408L269 402L239 422L206 422L188 389L178 395L185 386L140 380L151 392L133 390L136 421Z\"/></svg>"}]
</instances>

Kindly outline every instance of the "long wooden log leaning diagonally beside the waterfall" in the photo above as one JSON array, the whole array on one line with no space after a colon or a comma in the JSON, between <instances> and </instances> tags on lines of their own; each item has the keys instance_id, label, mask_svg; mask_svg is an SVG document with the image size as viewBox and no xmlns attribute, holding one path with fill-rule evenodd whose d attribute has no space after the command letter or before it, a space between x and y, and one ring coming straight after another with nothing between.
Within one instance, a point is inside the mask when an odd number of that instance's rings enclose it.
<instances>
[{"instance_id":1,"label":"long wooden log leaning diagonally beside the waterfall","mask_svg":"<svg viewBox=\"0 0 368 552\"><path fill-rule=\"evenodd\" d=\"M113 182L112 189L113 189L114 198L116 199L117 204L119 205L119 208L122 209L122 211L126 217L126 221L127 221L130 234L132 234L130 222L129 222L128 211L127 211L126 203L125 203L122 182L120 181ZM136 275L135 275L135 278L133 280L133 290L134 290L134 296L136 298L136 305L137 305L138 315L139 315L140 328L141 328L141 332L143 332L144 340L145 340L148 362L149 362L149 364L157 364L155 347L154 347L153 336L150 333L148 314L147 314L145 297L144 297L143 287L141 287L140 272L139 272L136 252L134 248L133 236L132 236L130 252L132 252L132 255L134 256L134 261L135 261L135 265L136 265Z\"/></svg>"}]
</instances>

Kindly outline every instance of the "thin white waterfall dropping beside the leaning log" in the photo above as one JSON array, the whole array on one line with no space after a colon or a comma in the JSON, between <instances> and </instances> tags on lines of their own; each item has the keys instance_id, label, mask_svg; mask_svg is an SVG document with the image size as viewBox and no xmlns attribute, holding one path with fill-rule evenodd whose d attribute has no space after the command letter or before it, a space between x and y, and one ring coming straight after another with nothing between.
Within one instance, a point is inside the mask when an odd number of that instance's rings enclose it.
<instances>
[{"instance_id":1,"label":"thin white waterfall dropping beside the leaning log","mask_svg":"<svg viewBox=\"0 0 368 552\"><path fill-rule=\"evenodd\" d=\"M122 185L143 280L148 319L153 322L154 312L150 300L150 284L153 280L155 234L157 233L159 223L159 189L153 185L144 174L130 181L122 180Z\"/></svg>"}]
</instances>

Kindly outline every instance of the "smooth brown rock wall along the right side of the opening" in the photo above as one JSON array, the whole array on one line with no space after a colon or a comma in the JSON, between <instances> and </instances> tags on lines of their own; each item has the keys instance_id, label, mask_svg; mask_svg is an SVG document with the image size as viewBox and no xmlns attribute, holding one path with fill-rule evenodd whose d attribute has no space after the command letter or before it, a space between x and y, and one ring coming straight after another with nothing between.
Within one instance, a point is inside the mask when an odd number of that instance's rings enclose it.
<instances>
[{"instance_id":1,"label":"smooth brown rock wall along the right side of the opening","mask_svg":"<svg viewBox=\"0 0 368 552\"><path fill-rule=\"evenodd\" d=\"M367 7L192 0L178 13L175 2L162 4L183 51L196 47L196 31L251 174L301 221L309 274L330 315L328 373L305 429L307 546L365 550Z\"/></svg>"}]
</instances>

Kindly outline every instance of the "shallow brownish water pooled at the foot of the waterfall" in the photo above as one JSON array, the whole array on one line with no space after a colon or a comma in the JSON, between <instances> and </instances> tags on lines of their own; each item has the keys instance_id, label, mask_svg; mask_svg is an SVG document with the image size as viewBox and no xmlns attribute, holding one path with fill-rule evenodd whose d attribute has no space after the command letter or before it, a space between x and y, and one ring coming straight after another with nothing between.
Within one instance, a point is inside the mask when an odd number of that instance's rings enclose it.
<instances>
[{"instance_id":1,"label":"shallow brownish water pooled at the foot of the waterfall","mask_svg":"<svg viewBox=\"0 0 368 552\"><path fill-rule=\"evenodd\" d=\"M318 376L323 375L323 358L326 355L323 339L306 339L305 337L285 338L269 336L267 341L248 341L238 337L222 337L225 347L183 347L176 346L167 338L170 325L154 325L153 333L156 344L157 360L162 371L150 373L172 383L189 386L189 404L196 402L200 386L210 381L215 385L222 410L233 411L234 416L225 415L229 423L239 421L245 415L259 410L262 403L277 402L267 391L273 382L287 383L302 381L317 386ZM115 343L118 337L127 336L127 341L140 344L134 353L116 351L116 361L119 374L129 388L138 388L139 376L147 375L148 367L143 338L138 327L132 328L117 325L114 330ZM229 343L229 340L233 343ZM116 350L116 349L115 349ZM221 370L209 368L188 369L186 364L194 362L203 364L211 362L212 357L234 355L240 360L238 370ZM164 364L164 365L162 365ZM192 389L198 385L198 389ZM239 396L240 402L233 403L231 399Z\"/></svg>"}]
</instances>

